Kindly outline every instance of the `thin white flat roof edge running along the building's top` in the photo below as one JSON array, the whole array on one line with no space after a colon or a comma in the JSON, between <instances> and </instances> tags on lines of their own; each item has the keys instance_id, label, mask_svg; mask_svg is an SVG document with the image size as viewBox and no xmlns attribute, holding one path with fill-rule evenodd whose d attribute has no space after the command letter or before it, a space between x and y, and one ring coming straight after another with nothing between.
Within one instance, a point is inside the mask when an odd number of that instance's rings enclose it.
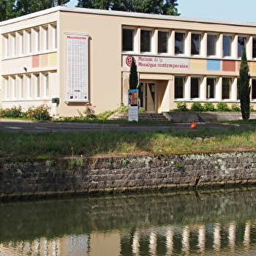
<instances>
[{"instance_id":1,"label":"thin white flat roof edge running along the building's top","mask_svg":"<svg viewBox=\"0 0 256 256\"><path fill-rule=\"evenodd\" d=\"M10 20L4 20L0 22L0 26L4 26L11 23L16 23L21 20L27 20L30 18L35 18L41 15L47 15L53 12L78 12L78 13L89 13L95 15L113 15L121 17L132 17L132 18L148 18L148 19L157 19L157 20L179 20L186 22L195 22L195 23L214 23L214 24L223 24L223 25L234 25L234 26L252 26L255 27L256 23L252 22L241 22L241 21L230 21L230 20L214 20L206 18L189 18L184 16L176 15L159 15L159 14L148 14L141 12L122 12L122 11L113 11L113 10L99 10L99 9L89 9L89 8L80 8L80 7L52 7L49 9L41 10L39 12L33 12L28 15L23 15L18 18L12 18Z\"/></svg>"}]
</instances>

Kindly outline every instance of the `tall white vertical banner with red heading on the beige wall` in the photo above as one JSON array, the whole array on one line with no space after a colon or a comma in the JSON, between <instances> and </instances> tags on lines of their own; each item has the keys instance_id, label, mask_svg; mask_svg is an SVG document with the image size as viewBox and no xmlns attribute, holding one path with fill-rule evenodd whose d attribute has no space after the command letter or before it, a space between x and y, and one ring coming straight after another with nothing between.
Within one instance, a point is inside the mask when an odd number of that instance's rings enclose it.
<instances>
[{"instance_id":1,"label":"tall white vertical banner with red heading on the beige wall","mask_svg":"<svg viewBox=\"0 0 256 256\"><path fill-rule=\"evenodd\" d=\"M66 34L68 102L88 102L89 36Z\"/></svg>"}]
</instances>

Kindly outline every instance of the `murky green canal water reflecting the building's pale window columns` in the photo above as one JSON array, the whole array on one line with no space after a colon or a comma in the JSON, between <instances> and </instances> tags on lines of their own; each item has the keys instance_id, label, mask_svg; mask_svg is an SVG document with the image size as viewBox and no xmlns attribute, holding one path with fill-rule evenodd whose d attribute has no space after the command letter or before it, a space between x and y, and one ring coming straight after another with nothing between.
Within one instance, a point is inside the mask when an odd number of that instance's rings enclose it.
<instances>
[{"instance_id":1,"label":"murky green canal water reflecting the building's pale window columns","mask_svg":"<svg viewBox=\"0 0 256 256\"><path fill-rule=\"evenodd\" d=\"M256 255L256 189L2 202L14 255Z\"/></svg>"}]
</instances>

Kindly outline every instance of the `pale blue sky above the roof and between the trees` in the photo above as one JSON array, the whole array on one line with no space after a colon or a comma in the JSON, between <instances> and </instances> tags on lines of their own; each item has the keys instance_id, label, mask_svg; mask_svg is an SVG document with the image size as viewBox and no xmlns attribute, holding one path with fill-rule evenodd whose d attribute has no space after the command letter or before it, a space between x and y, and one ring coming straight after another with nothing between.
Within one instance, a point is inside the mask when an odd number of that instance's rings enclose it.
<instances>
[{"instance_id":1,"label":"pale blue sky above the roof and between the trees","mask_svg":"<svg viewBox=\"0 0 256 256\"><path fill-rule=\"evenodd\" d=\"M75 7L77 0L68 6ZM178 12L188 18L233 20L256 23L255 0L178 0Z\"/></svg>"}]
</instances>

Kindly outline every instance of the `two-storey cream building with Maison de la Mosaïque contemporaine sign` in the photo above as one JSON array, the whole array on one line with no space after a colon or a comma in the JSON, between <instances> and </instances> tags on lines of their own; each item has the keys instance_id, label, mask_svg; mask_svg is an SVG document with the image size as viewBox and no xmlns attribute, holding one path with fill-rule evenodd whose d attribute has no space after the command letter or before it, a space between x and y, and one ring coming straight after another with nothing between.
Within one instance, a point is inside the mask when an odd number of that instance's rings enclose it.
<instances>
[{"instance_id":1,"label":"two-storey cream building with Maison de la Mosa\u00efque contemporaine sign","mask_svg":"<svg viewBox=\"0 0 256 256\"><path fill-rule=\"evenodd\" d=\"M47 104L52 116L127 105L135 58L140 106L238 104L245 47L256 108L256 23L53 7L0 23L0 108Z\"/></svg>"}]
</instances>

